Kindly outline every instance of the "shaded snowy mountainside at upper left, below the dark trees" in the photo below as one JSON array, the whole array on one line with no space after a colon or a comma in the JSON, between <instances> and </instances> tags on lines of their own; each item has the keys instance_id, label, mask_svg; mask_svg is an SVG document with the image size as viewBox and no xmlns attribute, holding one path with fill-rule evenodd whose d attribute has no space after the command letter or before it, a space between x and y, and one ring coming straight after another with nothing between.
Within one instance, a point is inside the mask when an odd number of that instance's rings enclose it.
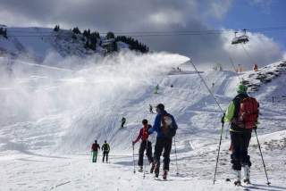
<instances>
[{"instance_id":1,"label":"shaded snowy mountainside at upper left, below the dark trees","mask_svg":"<svg viewBox=\"0 0 286 191\"><path fill-rule=\"evenodd\" d=\"M49 54L61 57L80 56L86 57L92 54L106 54L108 46L114 39L98 37L97 46L94 49L86 47L88 38L82 33L74 33L71 29L49 29L49 28L14 28L0 26L6 30L6 37L0 34L0 55L26 60L42 62ZM112 41L112 42L111 42ZM116 49L129 49L130 45L117 41Z\"/></svg>"}]
</instances>

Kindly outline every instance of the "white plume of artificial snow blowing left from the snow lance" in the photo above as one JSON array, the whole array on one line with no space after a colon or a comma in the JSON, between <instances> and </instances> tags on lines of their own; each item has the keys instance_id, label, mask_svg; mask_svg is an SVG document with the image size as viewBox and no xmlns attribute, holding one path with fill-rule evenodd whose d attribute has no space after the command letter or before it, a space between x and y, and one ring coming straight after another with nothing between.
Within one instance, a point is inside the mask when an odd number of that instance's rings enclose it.
<instances>
[{"instance_id":1,"label":"white plume of artificial snow blowing left from the snow lance","mask_svg":"<svg viewBox=\"0 0 286 191\"><path fill-rule=\"evenodd\" d=\"M158 76L188 60L179 54L131 52L56 58L49 56L44 62L60 62L56 66L1 59L5 74L0 87L1 123L19 122L39 131L44 127L57 132L68 129L61 143L64 150L85 149L95 137L110 139L124 105L141 96L143 87L156 86Z\"/></svg>"}]
</instances>

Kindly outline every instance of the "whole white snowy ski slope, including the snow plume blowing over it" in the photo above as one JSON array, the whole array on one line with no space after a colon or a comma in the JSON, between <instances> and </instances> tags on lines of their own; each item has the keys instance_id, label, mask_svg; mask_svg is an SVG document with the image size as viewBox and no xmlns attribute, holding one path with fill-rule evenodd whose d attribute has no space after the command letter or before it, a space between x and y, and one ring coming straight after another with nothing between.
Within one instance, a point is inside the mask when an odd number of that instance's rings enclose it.
<instances>
[{"instance_id":1,"label":"whole white snowy ski slope, including the snow plume blowing over it","mask_svg":"<svg viewBox=\"0 0 286 191\"><path fill-rule=\"evenodd\" d=\"M198 74L186 71L190 66L176 71L188 58L122 53L81 60L77 71L72 67L74 59L62 60L63 70L0 58L1 190L286 190L286 101L282 96L279 102L269 99L286 95L285 71L251 93L261 106L257 134L272 184L265 184L253 134L252 184L234 187L225 181L233 178L227 124L213 185L222 112ZM236 94L237 74L204 71L201 75L225 109ZM137 165L133 173L131 140L139 133L141 120L153 124L155 114L148 112L148 105L159 103L179 124L175 137L179 174L173 145L167 181L154 180L147 163L145 179ZM126 127L119 129L123 116ZM110 163L102 163L101 154L97 163L91 162L90 145L95 139L100 145L104 140L111 145ZM156 134L150 139L154 146ZM135 145L136 164L138 148Z\"/></svg>"}]
</instances>

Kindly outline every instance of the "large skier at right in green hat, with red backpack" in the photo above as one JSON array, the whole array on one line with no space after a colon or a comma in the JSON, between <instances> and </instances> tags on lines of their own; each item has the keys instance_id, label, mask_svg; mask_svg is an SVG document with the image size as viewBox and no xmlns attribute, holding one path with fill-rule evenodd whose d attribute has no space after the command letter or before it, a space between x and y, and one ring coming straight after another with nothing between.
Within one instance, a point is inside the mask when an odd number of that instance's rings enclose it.
<instances>
[{"instance_id":1,"label":"large skier at right in green hat, with red backpack","mask_svg":"<svg viewBox=\"0 0 286 191\"><path fill-rule=\"evenodd\" d=\"M236 175L234 184L241 184L241 167L244 169L244 182L250 183L250 156L248 145L252 129L257 129L258 107L255 98L247 94L248 87L240 84L237 87L238 95L229 104L222 122L231 123L231 164Z\"/></svg>"}]
</instances>

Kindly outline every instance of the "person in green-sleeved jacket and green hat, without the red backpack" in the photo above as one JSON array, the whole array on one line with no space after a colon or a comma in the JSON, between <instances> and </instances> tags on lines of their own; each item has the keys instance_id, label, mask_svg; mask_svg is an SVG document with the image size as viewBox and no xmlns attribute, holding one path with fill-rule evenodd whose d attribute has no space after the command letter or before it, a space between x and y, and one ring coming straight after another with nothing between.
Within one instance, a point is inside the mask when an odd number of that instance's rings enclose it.
<instances>
[{"instance_id":1,"label":"person in green-sleeved jacket and green hat, without the red backpack","mask_svg":"<svg viewBox=\"0 0 286 191\"><path fill-rule=\"evenodd\" d=\"M248 145L251 138L252 129L241 128L238 125L238 116L240 112L240 102L248 97L248 87L240 84L237 88L237 93L229 104L222 122L230 122L231 134L231 164L232 170L236 174L235 185L240 185L241 167L244 168L244 182L249 183L250 177L250 156L248 155Z\"/></svg>"}]
</instances>

